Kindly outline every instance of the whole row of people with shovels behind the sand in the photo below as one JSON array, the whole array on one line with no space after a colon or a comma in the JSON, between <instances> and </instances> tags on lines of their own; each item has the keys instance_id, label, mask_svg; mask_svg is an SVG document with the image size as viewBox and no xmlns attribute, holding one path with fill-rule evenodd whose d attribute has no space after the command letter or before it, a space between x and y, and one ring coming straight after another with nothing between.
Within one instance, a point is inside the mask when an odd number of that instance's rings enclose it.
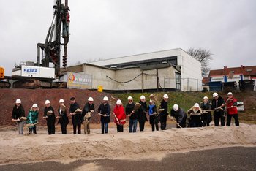
<instances>
[{"instance_id":1,"label":"whole row of people with shovels behind the sand","mask_svg":"<svg viewBox=\"0 0 256 171\"><path fill-rule=\"evenodd\" d=\"M233 94L230 92L227 94L228 99L225 102L221 96L217 93L213 94L214 99L212 103L208 102L208 97L203 98L203 102L195 104L191 109L187 111L189 114L190 127L209 126L211 122L211 111L214 111L214 125L219 126L219 120L221 125L224 123L224 107L227 107L227 126L230 126L231 117L235 118L236 126L239 126L238 114L236 108L237 100L233 98ZM143 132L146 121L148 121L147 115L149 115L149 121L152 131L166 129L167 116L167 101L168 95L164 94L163 99L159 105L159 111L157 112L157 106L154 100L150 99L149 105L146 104L145 96L140 96L140 102L133 102L132 96L128 97L128 103L126 107L120 99L116 101L116 106L113 109L114 123L116 123L117 132L124 132L124 124L126 123L126 117L129 118L129 132L136 132L137 123L139 123L140 132ZM43 119L46 119L48 126L48 134L55 134L55 123L58 119L58 123L61 125L62 134L67 134L67 124L69 123L68 116L72 116L73 134L81 134L81 124L83 123L84 133L90 134L89 121L91 114L94 113L94 99L89 97L88 102L80 110L79 104L76 102L75 97L70 98L69 113L67 114L67 107L64 105L64 99L59 100L58 115L56 116L53 107L50 106L50 101L45 101L45 109ZM213 109L213 110L212 110ZM39 109L37 104L33 104L29 110L29 114L26 117L26 123L29 125L29 133L37 133L36 125L38 121ZM108 123L110 122L110 104L108 104L108 97L103 98L102 104L99 105L97 114L100 115L102 134L108 133ZM177 123L177 127L187 126L187 113L184 112L178 104L173 105L173 109L170 111L171 119L174 119ZM20 118L24 118L25 111L22 107L20 99L16 100L15 107L12 110L12 121L17 121L19 134L23 134L24 121Z\"/></svg>"}]
</instances>

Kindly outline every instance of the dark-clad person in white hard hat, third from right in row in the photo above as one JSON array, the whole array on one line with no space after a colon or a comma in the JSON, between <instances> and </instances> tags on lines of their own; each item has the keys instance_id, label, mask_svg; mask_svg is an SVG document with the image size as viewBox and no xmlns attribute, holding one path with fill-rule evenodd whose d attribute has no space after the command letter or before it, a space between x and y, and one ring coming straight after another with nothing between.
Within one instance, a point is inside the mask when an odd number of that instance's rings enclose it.
<instances>
[{"instance_id":1,"label":"dark-clad person in white hard hat, third from right in row","mask_svg":"<svg viewBox=\"0 0 256 171\"><path fill-rule=\"evenodd\" d=\"M203 97L203 102L200 103L200 107L202 110L211 110L211 104L208 102L208 97L204 96ZM211 111L205 112L203 111L203 126L209 126L212 118L211 118Z\"/></svg>"}]
</instances>

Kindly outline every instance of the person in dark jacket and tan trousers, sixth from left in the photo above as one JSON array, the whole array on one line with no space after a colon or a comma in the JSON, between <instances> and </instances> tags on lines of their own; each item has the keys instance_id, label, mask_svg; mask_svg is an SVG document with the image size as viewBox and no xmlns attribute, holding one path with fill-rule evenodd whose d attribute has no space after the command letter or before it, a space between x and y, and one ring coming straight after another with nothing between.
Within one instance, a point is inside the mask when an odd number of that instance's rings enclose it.
<instances>
[{"instance_id":1,"label":"person in dark jacket and tan trousers, sixth from left","mask_svg":"<svg viewBox=\"0 0 256 171\"><path fill-rule=\"evenodd\" d=\"M83 107L82 117L83 117L83 132L84 134L90 134L90 119L91 114L94 113L94 99L90 96L87 103Z\"/></svg>"}]
</instances>

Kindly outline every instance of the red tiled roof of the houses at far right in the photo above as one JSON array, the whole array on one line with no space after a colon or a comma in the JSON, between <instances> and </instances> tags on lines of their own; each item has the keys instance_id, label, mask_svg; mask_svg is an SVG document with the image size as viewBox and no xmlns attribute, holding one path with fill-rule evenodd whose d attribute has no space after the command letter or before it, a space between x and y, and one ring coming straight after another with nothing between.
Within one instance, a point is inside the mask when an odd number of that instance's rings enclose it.
<instances>
[{"instance_id":1,"label":"red tiled roof of the houses at far right","mask_svg":"<svg viewBox=\"0 0 256 171\"><path fill-rule=\"evenodd\" d=\"M211 70L209 73L209 77L217 76L217 75L229 75L233 73L234 75L256 75L256 66L243 66L235 67L235 68L227 68L224 66L223 69Z\"/></svg>"}]
</instances>

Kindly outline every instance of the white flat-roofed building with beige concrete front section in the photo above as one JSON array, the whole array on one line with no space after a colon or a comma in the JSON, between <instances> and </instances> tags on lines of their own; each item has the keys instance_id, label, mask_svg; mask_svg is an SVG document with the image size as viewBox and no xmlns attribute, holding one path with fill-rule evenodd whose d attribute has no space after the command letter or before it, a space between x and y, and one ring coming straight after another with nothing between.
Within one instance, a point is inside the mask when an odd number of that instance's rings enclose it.
<instances>
[{"instance_id":1,"label":"white flat-roofed building with beige concrete front section","mask_svg":"<svg viewBox=\"0 0 256 171\"><path fill-rule=\"evenodd\" d=\"M106 91L202 90L201 64L181 48L68 67L68 83L83 75L86 78L80 80L91 79L84 86L90 89L102 86ZM76 85L79 87L79 83Z\"/></svg>"}]
</instances>

